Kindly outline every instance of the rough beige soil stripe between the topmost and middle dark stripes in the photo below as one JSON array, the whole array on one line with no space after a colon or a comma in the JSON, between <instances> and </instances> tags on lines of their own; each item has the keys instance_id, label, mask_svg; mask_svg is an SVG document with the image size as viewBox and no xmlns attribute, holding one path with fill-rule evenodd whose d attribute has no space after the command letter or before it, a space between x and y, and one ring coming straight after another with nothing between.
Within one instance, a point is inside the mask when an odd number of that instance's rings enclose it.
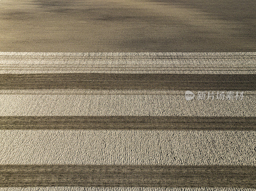
<instances>
[{"instance_id":1,"label":"rough beige soil stripe between the topmost and middle dark stripes","mask_svg":"<svg viewBox=\"0 0 256 191\"><path fill-rule=\"evenodd\" d=\"M256 96L187 101L185 95L1 94L0 116L234 116L256 117Z\"/></svg>"}]
</instances>

